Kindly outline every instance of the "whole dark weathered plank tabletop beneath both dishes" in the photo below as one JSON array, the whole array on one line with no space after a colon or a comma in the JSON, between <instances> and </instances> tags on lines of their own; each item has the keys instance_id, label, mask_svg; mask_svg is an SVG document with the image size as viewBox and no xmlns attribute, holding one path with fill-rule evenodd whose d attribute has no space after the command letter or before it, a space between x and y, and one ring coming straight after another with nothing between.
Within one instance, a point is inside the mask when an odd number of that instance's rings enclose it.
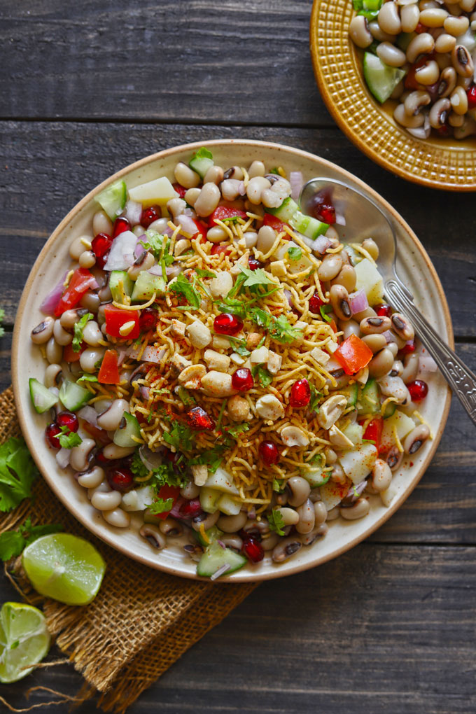
<instances>
[{"instance_id":1,"label":"whole dark weathered plank tabletop beneath both dishes","mask_svg":"<svg viewBox=\"0 0 476 714\"><path fill-rule=\"evenodd\" d=\"M350 144L313 79L310 9L0 0L2 388L21 290L64 214L131 161L230 137L312 151L393 203L430 254L457 353L476 369L475 196L406 183ZM453 402L430 468L383 528L320 568L260 585L129 711L474 714L475 545L475 431ZM7 599L16 593L3 578ZM0 694L21 707L35 684L74 694L81 678L65 665Z\"/></svg>"}]
</instances>

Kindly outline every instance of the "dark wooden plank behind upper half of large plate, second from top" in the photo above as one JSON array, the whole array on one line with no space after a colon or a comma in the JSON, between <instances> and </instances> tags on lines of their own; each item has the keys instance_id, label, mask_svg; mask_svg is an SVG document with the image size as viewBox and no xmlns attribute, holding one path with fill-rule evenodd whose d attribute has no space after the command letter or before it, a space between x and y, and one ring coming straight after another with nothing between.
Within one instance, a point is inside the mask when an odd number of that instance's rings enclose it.
<instances>
[{"instance_id":1,"label":"dark wooden plank behind upper half of large plate, second from top","mask_svg":"<svg viewBox=\"0 0 476 714\"><path fill-rule=\"evenodd\" d=\"M378 188L430 253L450 303L455 333L476 336L476 247L468 240L476 224L472 195L410 186L365 159L337 129L1 122L1 304L7 321L13 321L21 289L46 237L99 181L168 146L233 136L312 151ZM445 220L437 210L440 206Z\"/></svg>"}]
</instances>

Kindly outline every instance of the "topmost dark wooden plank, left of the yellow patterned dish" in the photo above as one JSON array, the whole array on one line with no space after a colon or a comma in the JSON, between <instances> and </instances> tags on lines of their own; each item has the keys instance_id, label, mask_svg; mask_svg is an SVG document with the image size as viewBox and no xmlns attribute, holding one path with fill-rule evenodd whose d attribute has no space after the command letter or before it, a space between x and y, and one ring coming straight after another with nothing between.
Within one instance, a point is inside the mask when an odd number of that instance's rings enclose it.
<instances>
[{"instance_id":1,"label":"topmost dark wooden plank, left of the yellow patterned dish","mask_svg":"<svg viewBox=\"0 0 476 714\"><path fill-rule=\"evenodd\" d=\"M0 3L2 117L327 124L308 0Z\"/></svg>"}]
</instances>

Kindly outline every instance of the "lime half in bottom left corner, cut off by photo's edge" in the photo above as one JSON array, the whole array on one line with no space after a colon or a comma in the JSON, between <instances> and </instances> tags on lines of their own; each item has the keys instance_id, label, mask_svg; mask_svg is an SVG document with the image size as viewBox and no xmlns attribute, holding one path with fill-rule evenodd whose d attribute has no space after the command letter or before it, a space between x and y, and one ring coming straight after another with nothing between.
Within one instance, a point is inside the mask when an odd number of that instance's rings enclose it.
<instances>
[{"instance_id":1,"label":"lime half in bottom left corner, cut off by photo's edge","mask_svg":"<svg viewBox=\"0 0 476 714\"><path fill-rule=\"evenodd\" d=\"M0 610L0 682L26 677L48 653L50 640L41 610L24 603L4 603Z\"/></svg>"}]
</instances>

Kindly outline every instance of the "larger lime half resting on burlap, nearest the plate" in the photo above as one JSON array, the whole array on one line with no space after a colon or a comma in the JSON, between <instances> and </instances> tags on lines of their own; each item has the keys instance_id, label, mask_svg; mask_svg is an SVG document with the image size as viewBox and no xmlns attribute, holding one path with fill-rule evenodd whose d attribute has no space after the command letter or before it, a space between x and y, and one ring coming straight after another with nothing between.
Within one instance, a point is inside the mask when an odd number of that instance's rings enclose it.
<instances>
[{"instance_id":1,"label":"larger lime half resting on burlap, nearest the plate","mask_svg":"<svg viewBox=\"0 0 476 714\"><path fill-rule=\"evenodd\" d=\"M66 605L91 603L106 570L96 548L70 533L34 540L25 548L21 562L36 592Z\"/></svg>"}]
</instances>

